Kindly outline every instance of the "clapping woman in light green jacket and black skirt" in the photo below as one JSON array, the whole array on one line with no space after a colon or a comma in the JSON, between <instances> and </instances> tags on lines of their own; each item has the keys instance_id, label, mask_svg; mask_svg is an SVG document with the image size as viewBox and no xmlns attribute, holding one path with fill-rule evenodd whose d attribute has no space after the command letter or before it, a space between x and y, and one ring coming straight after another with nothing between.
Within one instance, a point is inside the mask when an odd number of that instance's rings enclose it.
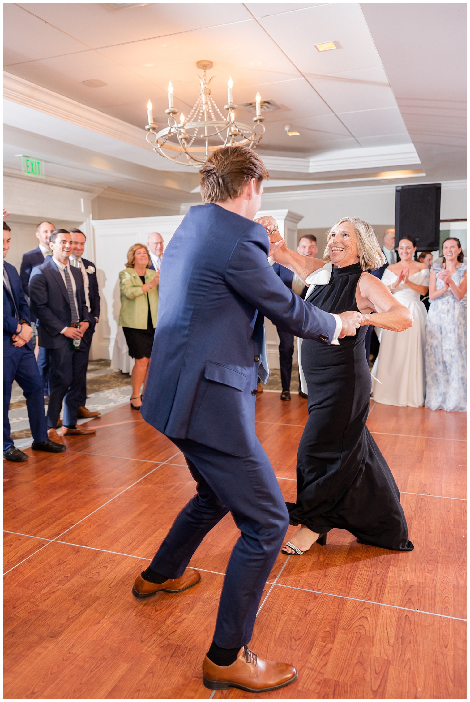
<instances>
[{"instance_id":1,"label":"clapping woman in light green jacket and black skirt","mask_svg":"<svg viewBox=\"0 0 470 702\"><path fill-rule=\"evenodd\" d=\"M156 314L159 308L160 272L150 270L150 255L147 246L134 244L127 253L125 270L119 273L121 289L121 312L119 326L122 326L129 349L135 359L132 370L132 397L130 406L140 410L142 398L140 389L147 378Z\"/></svg>"}]
</instances>

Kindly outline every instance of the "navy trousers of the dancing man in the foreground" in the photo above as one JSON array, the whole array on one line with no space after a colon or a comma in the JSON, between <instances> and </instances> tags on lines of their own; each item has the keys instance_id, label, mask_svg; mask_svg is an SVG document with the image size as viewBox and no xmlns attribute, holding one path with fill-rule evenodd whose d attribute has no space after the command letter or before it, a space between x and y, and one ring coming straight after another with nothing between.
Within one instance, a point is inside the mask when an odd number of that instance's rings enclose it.
<instances>
[{"instance_id":1,"label":"navy trousers of the dancing man in the foreground","mask_svg":"<svg viewBox=\"0 0 470 702\"><path fill-rule=\"evenodd\" d=\"M176 517L150 566L162 576L179 578L204 536L231 512L241 534L227 566L214 641L224 649L244 646L286 534L286 503L258 439L246 457L189 439L171 441L184 453L197 494Z\"/></svg>"}]
</instances>

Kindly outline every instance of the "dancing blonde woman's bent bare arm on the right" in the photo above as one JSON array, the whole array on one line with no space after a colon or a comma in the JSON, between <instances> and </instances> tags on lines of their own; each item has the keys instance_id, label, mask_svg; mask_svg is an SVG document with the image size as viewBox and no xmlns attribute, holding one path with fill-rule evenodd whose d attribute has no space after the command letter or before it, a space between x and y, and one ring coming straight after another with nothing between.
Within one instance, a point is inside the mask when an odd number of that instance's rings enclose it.
<instances>
[{"instance_id":1,"label":"dancing blonde woman's bent bare arm on the right","mask_svg":"<svg viewBox=\"0 0 470 702\"><path fill-rule=\"evenodd\" d=\"M405 331L412 326L408 307L399 303L387 286L370 273L363 273L359 279L356 302L364 317L361 326L373 324L389 331Z\"/></svg>"}]
</instances>

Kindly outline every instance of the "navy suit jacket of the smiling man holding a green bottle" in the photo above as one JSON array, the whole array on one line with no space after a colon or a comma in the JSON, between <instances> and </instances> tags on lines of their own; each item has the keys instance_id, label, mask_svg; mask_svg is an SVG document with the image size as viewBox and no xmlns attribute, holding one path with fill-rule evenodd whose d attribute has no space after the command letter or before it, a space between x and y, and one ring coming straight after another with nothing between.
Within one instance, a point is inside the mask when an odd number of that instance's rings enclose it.
<instances>
[{"instance_id":1,"label":"navy suit jacket of the smiling man holding a green bottle","mask_svg":"<svg viewBox=\"0 0 470 702\"><path fill-rule=\"evenodd\" d=\"M75 279L80 320L94 325L95 320L88 312L85 302L81 270L74 266L70 266L70 270ZM71 343L67 336L60 333L65 326L72 324L72 310L67 288L52 256L48 256L41 265L33 268L29 279L29 298L32 312L39 320L39 345L55 349Z\"/></svg>"}]
</instances>

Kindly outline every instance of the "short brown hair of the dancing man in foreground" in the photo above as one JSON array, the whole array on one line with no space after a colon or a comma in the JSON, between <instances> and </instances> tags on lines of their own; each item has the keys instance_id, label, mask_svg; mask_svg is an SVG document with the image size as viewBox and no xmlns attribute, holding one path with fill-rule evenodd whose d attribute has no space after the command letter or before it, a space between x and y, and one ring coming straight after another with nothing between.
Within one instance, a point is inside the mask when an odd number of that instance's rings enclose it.
<instances>
[{"instance_id":1,"label":"short brown hair of the dancing man in foreground","mask_svg":"<svg viewBox=\"0 0 470 702\"><path fill-rule=\"evenodd\" d=\"M260 157L248 146L226 146L217 149L201 168L203 204L225 202L239 197L243 188L256 178L257 190L269 178Z\"/></svg>"}]
</instances>

